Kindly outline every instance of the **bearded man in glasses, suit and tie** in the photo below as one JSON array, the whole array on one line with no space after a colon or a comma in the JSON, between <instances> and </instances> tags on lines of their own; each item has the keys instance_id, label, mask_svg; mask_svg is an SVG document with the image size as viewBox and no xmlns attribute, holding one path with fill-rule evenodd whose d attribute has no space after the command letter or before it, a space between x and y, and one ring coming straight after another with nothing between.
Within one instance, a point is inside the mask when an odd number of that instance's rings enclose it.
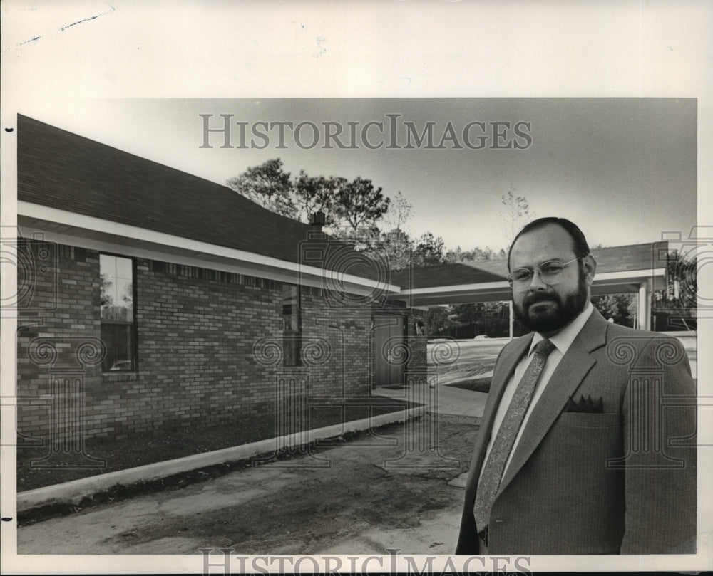
<instances>
[{"instance_id":1,"label":"bearded man in glasses, suit and tie","mask_svg":"<svg viewBox=\"0 0 713 576\"><path fill-rule=\"evenodd\" d=\"M608 323L559 218L520 231L513 309L466 483L458 554L694 553L695 384L672 337Z\"/></svg>"}]
</instances>

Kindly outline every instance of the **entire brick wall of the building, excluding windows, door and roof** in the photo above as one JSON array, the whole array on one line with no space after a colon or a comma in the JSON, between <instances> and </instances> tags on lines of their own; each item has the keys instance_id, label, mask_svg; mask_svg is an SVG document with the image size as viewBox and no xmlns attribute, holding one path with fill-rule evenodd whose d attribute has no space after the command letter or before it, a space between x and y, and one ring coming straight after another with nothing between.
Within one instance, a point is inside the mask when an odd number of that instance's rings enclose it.
<instances>
[{"instance_id":1,"label":"entire brick wall of the building, excluding windows, door and roof","mask_svg":"<svg viewBox=\"0 0 713 576\"><path fill-rule=\"evenodd\" d=\"M123 439L267 416L289 394L369 395L370 305L344 307L302 288L302 362L284 366L281 283L142 258L134 278L138 370L102 374L98 252L48 246L56 257L27 282L34 308L26 305L19 320L22 434L51 434L53 409L63 418L60 434L76 433L81 419L86 437ZM32 249L39 253L39 244ZM410 345L420 347L407 325ZM423 347L414 366L425 365Z\"/></svg>"}]
</instances>

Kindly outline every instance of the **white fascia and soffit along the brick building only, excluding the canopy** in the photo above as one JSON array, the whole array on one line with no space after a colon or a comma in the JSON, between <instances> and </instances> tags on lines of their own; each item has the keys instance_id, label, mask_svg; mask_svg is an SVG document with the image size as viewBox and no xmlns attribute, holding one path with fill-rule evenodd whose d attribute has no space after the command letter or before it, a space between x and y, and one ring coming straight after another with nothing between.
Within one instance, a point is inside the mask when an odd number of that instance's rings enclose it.
<instances>
[{"instance_id":1,"label":"white fascia and soffit along the brick building only, excluding the canopy","mask_svg":"<svg viewBox=\"0 0 713 576\"><path fill-rule=\"evenodd\" d=\"M399 293L399 286L304 263L186 239L138 226L76 214L26 201L17 203L17 224L24 237L164 262L259 276L301 286L331 288L357 295ZM384 276L381 274L380 276Z\"/></svg>"}]
</instances>

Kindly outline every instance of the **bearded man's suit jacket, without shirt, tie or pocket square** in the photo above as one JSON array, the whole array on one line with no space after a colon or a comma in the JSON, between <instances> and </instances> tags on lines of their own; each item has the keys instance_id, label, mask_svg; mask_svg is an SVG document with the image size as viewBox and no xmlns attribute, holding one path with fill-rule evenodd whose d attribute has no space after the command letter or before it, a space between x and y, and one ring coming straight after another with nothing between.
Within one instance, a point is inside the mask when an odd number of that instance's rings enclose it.
<instances>
[{"instance_id":1,"label":"bearded man's suit jacket, without shirt, tie or pocket square","mask_svg":"<svg viewBox=\"0 0 713 576\"><path fill-rule=\"evenodd\" d=\"M478 475L533 335L498 356L466 483L458 554L477 554ZM603 413L563 412L602 399ZM488 553L694 553L696 387L679 340L595 310L548 382L493 503Z\"/></svg>"}]
</instances>

